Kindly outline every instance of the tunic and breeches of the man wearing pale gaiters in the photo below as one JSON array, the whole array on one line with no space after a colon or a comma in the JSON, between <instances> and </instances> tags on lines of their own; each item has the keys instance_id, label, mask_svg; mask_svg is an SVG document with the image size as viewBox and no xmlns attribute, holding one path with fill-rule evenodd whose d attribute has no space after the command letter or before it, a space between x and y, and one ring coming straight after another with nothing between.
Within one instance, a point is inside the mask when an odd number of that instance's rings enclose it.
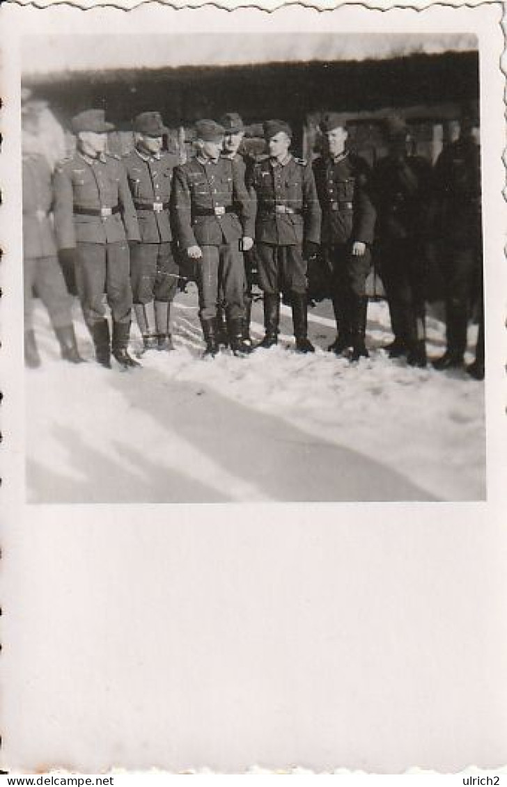
<instances>
[{"instance_id":1,"label":"tunic and breeches of the man wearing pale gaiters","mask_svg":"<svg viewBox=\"0 0 507 787\"><path fill-rule=\"evenodd\" d=\"M172 172L179 158L132 150L124 156L128 185L137 211L141 242L131 246L134 303L172 301L179 269L172 253L169 221Z\"/></svg>"}]
</instances>

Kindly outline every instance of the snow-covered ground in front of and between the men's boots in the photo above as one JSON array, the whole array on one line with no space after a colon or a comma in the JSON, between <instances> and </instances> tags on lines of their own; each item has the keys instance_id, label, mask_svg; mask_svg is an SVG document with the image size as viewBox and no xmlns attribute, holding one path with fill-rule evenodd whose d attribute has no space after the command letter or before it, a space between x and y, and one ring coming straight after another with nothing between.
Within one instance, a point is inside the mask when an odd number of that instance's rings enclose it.
<instances>
[{"instance_id":1,"label":"snow-covered ground in front of and between the men's boots","mask_svg":"<svg viewBox=\"0 0 507 787\"><path fill-rule=\"evenodd\" d=\"M485 497L483 384L464 372L407 368L390 341L385 302L368 311L371 358L350 365L325 348L328 301L309 311L314 356L282 343L247 359L201 360L194 288L173 307L176 351L152 352L121 373L60 360L43 307L35 329L43 366L26 371L28 501L464 501ZM261 338L261 301L253 335ZM133 329L132 346L140 346ZM428 351L443 326L431 319ZM470 347L476 328L470 328ZM468 355L472 360L472 355Z\"/></svg>"}]
</instances>

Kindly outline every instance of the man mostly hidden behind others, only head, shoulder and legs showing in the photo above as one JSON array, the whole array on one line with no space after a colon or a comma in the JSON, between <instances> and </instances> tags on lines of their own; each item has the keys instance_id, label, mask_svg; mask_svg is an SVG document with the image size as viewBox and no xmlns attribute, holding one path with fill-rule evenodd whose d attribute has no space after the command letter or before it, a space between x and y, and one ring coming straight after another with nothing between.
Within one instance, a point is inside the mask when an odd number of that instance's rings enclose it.
<instances>
[{"instance_id":1,"label":"man mostly hidden behind others, only head, shoulder and legs showing","mask_svg":"<svg viewBox=\"0 0 507 787\"><path fill-rule=\"evenodd\" d=\"M243 136L245 135L245 127L243 125L243 121L241 116L239 116L236 112L229 112L225 113L220 118L220 125L225 129L224 135L224 145L222 147L222 157L230 159L234 161L235 164L239 167L239 170L242 174L242 179L246 182L247 180L247 172L250 172L250 168L253 165L253 162L245 158L239 153L239 147L241 146L241 142ZM251 312L252 312L252 286L254 283L254 249L250 251L245 251L243 253L243 260L245 263L245 318L243 321L243 341L251 345L251 338L250 338L250 319L251 319ZM219 326L219 340L220 343L223 341L227 341L227 331L224 327L224 309L219 304L218 312L217 312L217 323Z\"/></svg>"}]
</instances>

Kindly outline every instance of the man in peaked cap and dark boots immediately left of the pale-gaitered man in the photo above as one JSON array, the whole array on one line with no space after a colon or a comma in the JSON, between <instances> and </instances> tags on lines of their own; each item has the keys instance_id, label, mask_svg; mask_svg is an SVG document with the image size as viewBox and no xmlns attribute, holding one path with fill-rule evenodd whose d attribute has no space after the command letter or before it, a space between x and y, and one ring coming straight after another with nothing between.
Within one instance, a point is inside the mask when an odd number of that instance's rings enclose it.
<instances>
[{"instance_id":1,"label":"man in peaked cap and dark boots immediately left of the pale-gaitered man","mask_svg":"<svg viewBox=\"0 0 507 787\"><path fill-rule=\"evenodd\" d=\"M139 241L137 215L127 173L105 154L107 132L102 109L72 119L76 154L57 168L54 222L64 257L76 260L76 286L99 364L110 368L109 323L104 290L113 317L113 356L123 368L138 366L128 353L132 291L128 242Z\"/></svg>"}]
</instances>

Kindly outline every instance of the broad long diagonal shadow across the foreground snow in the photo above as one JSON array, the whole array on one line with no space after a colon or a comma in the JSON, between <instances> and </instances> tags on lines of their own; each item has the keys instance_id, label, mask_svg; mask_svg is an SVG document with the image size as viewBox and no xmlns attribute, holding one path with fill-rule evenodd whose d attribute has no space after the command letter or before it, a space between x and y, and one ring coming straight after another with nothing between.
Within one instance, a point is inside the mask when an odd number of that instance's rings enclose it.
<instances>
[{"instance_id":1,"label":"broad long diagonal shadow across the foreground snow","mask_svg":"<svg viewBox=\"0 0 507 787\"><path fill-rule=\"evenodd\" d=\"M240 361L239 361L240 362ZM153 368L133 375L112 375L111 384L131 404L146 412L160 426L160 439L171 451L171 435L177 435L205 453L231 475L241 478L273 501L431 501L436 498L400 473L384 467L351 449L335 445L299 430L276 416L220 396L199 382L179 382ZM165 395L142 395L164 390ZM213 425L210 428L210 419ZM149 456L149 446L146 446ZM184 472L184 467L181 468ZM179 480L165 475L172 490L167 502L175 501ZM206 478L201 479L206 485ZM125 486L128 486L125 484ZM207 499L194 482L176 492L180 502L216 501L216 492ZM223 499L237 496L223 490ZM135 499L139 500L139 494ZM161 500L163 493L157 493ZM257 496L258 497L261 496ZM134 499L134 497L132 497ZM150 497L146 498L150 501ZM247 500L245 500L247 502Z\"/></svg>"}]
</instances>

